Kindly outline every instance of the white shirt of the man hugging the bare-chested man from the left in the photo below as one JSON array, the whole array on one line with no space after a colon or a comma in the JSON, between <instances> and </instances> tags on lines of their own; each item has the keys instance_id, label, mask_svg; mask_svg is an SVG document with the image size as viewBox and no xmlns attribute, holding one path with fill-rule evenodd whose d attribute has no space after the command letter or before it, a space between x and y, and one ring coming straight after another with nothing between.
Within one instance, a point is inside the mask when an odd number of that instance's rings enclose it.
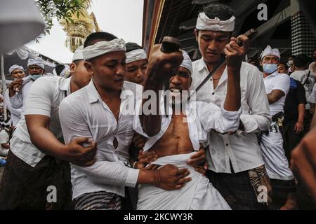
<instances>
[{"instance_id":1,"label":"white shirt of the man hugging the bare-chested man from the left","mask_svg":"<svg viewBox=\"0 0 316 224\"><path fill-rule=\"evenodd\" d=\"M124 97L126 91L131 96ZM129 145L133 139L133 116L142 87L124 82L117 122L110 108L103 102L93 81L74 92L60 104L59 117L65 143L74 137L88 137L97 143L96 163L90 167L72 165L72 197L105 191L124 196L124 187L135 187L139 170L126 166ZM132 113L129 113L129 109ZM114 148L113 141L118 146Z\"/></svg>"}]
</instances>

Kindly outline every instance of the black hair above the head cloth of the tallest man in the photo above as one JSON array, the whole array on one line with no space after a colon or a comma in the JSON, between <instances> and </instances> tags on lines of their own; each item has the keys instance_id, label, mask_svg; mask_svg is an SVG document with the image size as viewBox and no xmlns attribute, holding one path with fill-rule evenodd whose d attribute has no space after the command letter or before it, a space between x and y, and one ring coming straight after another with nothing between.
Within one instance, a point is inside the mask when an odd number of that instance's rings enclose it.
<instances>
[{"instance_id":1,"label":"black hair above the head cloth of the tallest man","mask_svg":"<svg viewBox=\"0 0 316 224\"><path fill-rule=\"evenodd\" d=\"M232 15L235 15L234 10L232 10L229 6L215 3L211 3L206 6L203 12L210 19L215 19L217 17L220 20L229 20Z\"/></svg>"}]
</instances>

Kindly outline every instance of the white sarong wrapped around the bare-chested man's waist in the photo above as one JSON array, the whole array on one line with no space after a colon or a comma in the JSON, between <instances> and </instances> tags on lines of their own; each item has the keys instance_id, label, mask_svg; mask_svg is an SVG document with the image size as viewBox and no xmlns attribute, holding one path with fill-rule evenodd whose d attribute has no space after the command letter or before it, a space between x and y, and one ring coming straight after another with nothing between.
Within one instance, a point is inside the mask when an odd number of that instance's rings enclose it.
<instances>
[{"instance_id":1,"label":"white sarong wrapped around the bare-chested man's waist","mask_svg":"<svg viewBox=\"0 0 316 224\"><path fill-rule=\"evenodd\" d=\"M175 165L190 170L192 181L180 190L163 190L142 184L138 187L138 210L230 210L228 203L205 176L187 166L191 155L170 155L152 162L155 165Z\"/></svg>"}]
</instances>

